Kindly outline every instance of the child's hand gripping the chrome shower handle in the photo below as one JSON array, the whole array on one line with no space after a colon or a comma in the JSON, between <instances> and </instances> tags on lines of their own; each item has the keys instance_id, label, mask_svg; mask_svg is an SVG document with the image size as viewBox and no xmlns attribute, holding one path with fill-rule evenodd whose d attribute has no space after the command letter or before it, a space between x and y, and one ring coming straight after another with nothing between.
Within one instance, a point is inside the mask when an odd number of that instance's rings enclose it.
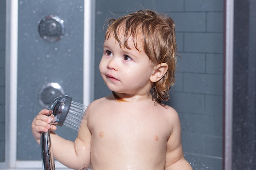
<instances>
[{"instance_id":1,"label":"child's hand gripping the chrome shower handle","mask_svg":"<svg viewBox=\"0 0 256 170\"><path fill-rule=\"evenodd\" d=\"M52 117L46 115L52 114L52 110L43 109L39 114L34 118L31 124L32 134L38 144L40 144L40 137L42 132L47 132L48 130L56 130L55 125L49 125L51 123Z\"/></svg>"}]
</instances>

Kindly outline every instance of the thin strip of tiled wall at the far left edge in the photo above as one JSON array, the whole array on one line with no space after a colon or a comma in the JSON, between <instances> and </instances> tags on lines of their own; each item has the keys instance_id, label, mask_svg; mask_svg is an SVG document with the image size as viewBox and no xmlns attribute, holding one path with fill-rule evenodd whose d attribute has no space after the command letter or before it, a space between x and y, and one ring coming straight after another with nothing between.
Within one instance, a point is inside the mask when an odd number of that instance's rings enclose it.
<instances>
[{"instance_id":1,"label":"thin strip of tiled wall at the far left edge","mask_svg":"<svg viewBox=\"0 0 256 170\"><path fill-rule=\"evenodd\" d=\"M5 0L0 0L0 162L4 161Z\"/></svg>"}]
</instances>

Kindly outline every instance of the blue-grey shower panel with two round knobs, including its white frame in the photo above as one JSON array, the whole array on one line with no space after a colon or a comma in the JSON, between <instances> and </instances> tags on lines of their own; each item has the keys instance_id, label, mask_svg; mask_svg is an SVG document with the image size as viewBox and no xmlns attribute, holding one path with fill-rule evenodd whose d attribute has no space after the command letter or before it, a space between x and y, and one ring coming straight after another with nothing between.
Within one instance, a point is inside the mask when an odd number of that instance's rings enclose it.
<instances>
[{"instance_id":1,"label":"blue-grey shower panel with two round knobs, including its white frame","mask_svg":"<svg viewBox=\"0 0 256 170\"><path fill-rule=\"evenodd\" d=\"M59 95L94 95L94 1L7 0L3 167L42 168L31 121ZM2 5L1 5L2 6ZM58 128L73 140L77 131ZM5 163L5 164L4 164ZM1 166L2 167L2 166ZM63 167L58 162L56 168Z\"/></svg>"}]
</instances>

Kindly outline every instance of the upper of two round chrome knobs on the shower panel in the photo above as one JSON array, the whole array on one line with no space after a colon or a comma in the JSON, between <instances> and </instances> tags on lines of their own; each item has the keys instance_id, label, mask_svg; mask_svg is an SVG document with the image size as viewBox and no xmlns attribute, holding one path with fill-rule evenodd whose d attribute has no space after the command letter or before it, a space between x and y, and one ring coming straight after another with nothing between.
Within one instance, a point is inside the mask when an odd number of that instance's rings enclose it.
<instances>
[{"instance_id":1,"label":"upper of two round chrome knobs on the shower panel","mask_svg":"<svg viewBox=\"0 0 256 170\"><path fill-rule=\"evenodd\" d=\"M40 21L38 31L44 40L56 42L63 38L64 21L56 15L48 15Z\"/></svg>"}]
</instances>

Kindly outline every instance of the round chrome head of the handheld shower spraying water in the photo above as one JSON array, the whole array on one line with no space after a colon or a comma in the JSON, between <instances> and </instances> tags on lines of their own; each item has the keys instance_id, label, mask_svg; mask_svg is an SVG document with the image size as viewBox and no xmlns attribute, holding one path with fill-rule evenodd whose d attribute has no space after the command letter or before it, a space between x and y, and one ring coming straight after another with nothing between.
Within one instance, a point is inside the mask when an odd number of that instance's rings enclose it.
<instances>
[{"instance_id":1,"label":"round chrome head of the handheld shower spraying water","mask_svg":"<svg viewBox=\"0 0 256 170\"><path fill-rule=\"evenodd\" d=\"M53 113L49 116L54 117L54 119L50 124L54 124L58 126L63 125L67 117L67 113L70 109L71 102L72 102L72 97L68 95L61 95L50 103L48 110L52 110Z\"/></svg>"}]
</instances>

